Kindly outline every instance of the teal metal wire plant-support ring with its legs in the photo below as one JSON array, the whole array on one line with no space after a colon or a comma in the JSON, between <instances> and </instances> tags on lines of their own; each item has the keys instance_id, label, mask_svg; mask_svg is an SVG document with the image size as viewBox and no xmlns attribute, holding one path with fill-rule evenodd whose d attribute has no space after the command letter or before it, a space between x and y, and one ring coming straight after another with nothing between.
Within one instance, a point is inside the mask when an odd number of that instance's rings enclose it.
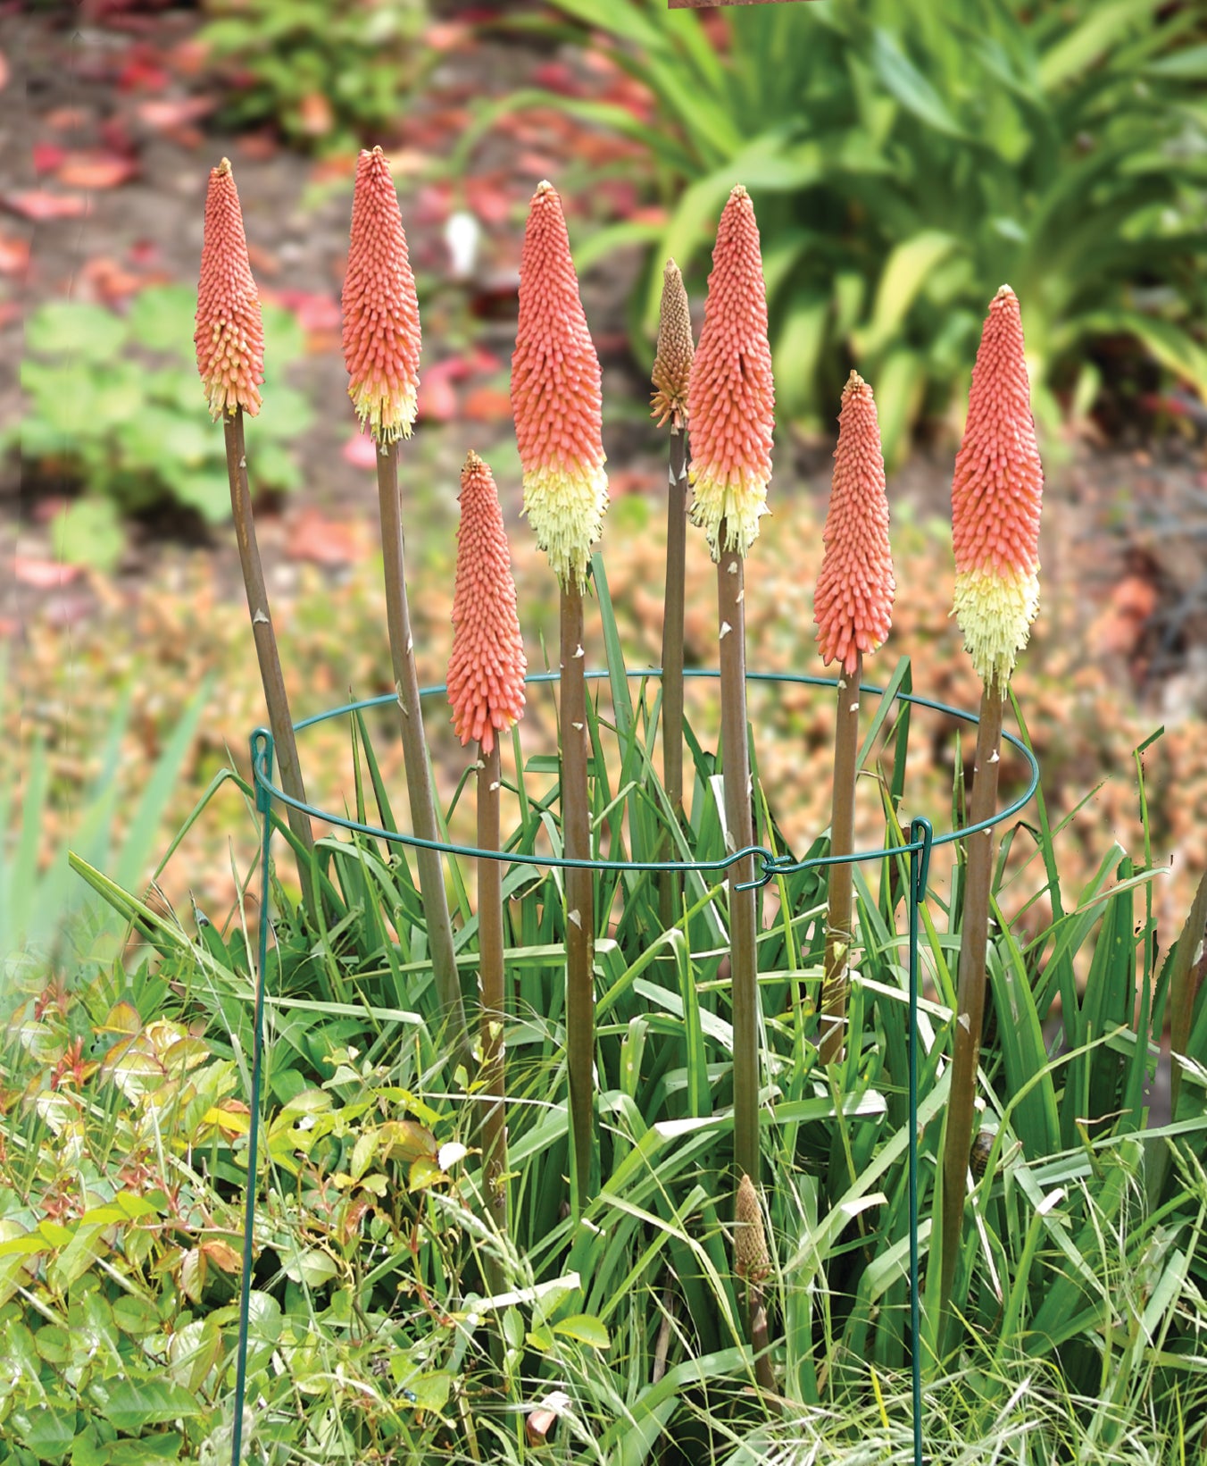
<instances>
[{"instance_id":1,"label":"teal metal wire plant-support ring with its legs","mask_svg":"<svg viewBox=\"0 0 1207 1466\"><path fill-rule=\"evenodd\" d=\"M645 671L625 671L628 679L645 679L645 677L661 677L659 668L649 668ZM608 677L606 671L589 671L586 679L589 682L601 682ZM684 677L709 677L718 679L719 671L710 668L691 667L684 670ZM560 674L555 671L533 673L524 680L530 685L535 683L554 683L558 682ZM747 680L750 682L769 682L769 683L797 683L812 688L832 688L835 689L838 683L831 677L813 677L804 673L772 673L772 671L750 671L747 673ZM429 688L420 688L420 696L431 696L435 693L445 692L444 683L435 683ZM870 696L882 696L883 688L873 688L867 683L860 685L860 692ZM901 702L908 702L913 707L929 708L935 712L943 712L948 717L958 718L964 723L976 724L978 717L976 712L967 712L962 708L951 707L946 702L936 702L930 698L921 698L917 693L901 692L899 689L894 696ZM393 692L382 693L376 698L363 698L359 702L346 702L338 708L331 708L327 712L316 712L313 717L303 718L300 723L294 724L294 732L302 733L308 727L313 727L318 723L327 723L333 718L346 717L353 712L362 712L369 708L388 707L395 701ZM255 990L255 1036L252 1047L252 1094L250 1094L250 1124L248 1132L248 1205L245 1214L245 1231L243 1231L243 1277L242 1277L242 1292L239 1302L239 1343L237 1343L237 1365L234 1375L234 1418L231 1431L231 1466L239 1466L242 1456L243 1443L243 1404L246 1397L246 1366L248 1366L248 1331L250 1319L250 1289L252 1289L252 1239L253 1239L253 1224L255 1224L255 1192L256 1192L256 1145L259 1138L259 1089L261 1089L261 1067L264 1056L264 976L268 962L268 897L270 897L270 877L268 877L268 861L270 861L270 841L272 834L271 809L272 800L278 800L283 805L290 805L294 809L300 809L311 815L313 819L322 819L330 825L337 825L338 828L349 830L356 834L372 836L374 839L387 840L397 844L406 844L413 847L426 847L439 850L444 855L460 855L472 859L489 859L489 861L507 861L508 863L517 865L535 865L535 866L589 866L596 871L697 871L697 872L722 872L728 869L735 861L744 856L757 856L760 875L747 883L740 890L750 885L766 885L768 881L775 875L787 875L795 871L817 869L820 866L829 865L857 865L863 861L880 861L885 856L908 856L910 858L910 962L908 962L908 1007L910 1007L910 1042L908 1042L908 1211L910 1211L910 1343L911 1343L911 1382L913 1382L913 1429L914 1429L914 1466L923 1466L923 1444L921 1444L921 1315L920 1315L920 1289L918 1289L918 1036L917 1036L917 1013L918 1013L918 916L921 905L926 900L926 883L930 869L930 855L936 846L952 844L955 840L964 840L970 834L976 834L980 830L989 830L1003 819L1009 819L1017 815L1033 798L1039 789L1040 781L1040 767L1036 761L1036 755L1027 748L1027 745L1012 733L1002 733L1002 737L1009 743L1018 754L1022 755L1027 762L1030 778L1027 781L1027 789L1020 795L1012 803L1006 805L990 819L983 819L980 824L967 825L962 830L954 830L943 836L936 836L930 821L917 817L910 824L910 839L905 844L898 846L882 846L876 850L857 850L847 856L823 856L812 861L792 861L788 856L776 855L773 850L768 850L760 844L747 846L741 850L735 850L724 859L718 861L571 861L565 856L552 855L523 855L513 850L482 850L476 846L456 844L453 841L442 843L434 840L422 840L413 834L404 834L400 830L382 830L379 825L362 824L357 819L349 819L346 815L337 815L327 809L319 809L315 805L303 803L299 799L291 799L283 789L272 783L272 734L268 729L256 729L250 737L250 752L252 752L252 780L256 789L256 811L262 818L262 839L261 839L261 922L259 922L259 959L256 963L256 990Z\"/></svg>"}]
</instances>

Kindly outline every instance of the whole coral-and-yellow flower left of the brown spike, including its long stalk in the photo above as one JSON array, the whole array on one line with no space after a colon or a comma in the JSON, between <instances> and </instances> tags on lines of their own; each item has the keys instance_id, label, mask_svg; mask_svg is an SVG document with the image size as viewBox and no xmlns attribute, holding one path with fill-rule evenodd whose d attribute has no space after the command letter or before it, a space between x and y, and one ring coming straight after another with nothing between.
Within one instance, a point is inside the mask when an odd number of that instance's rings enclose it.
<instances>
[{"instance_id":1,"label":"whole coral-and-yellow flower left of the brown spike, including its long stalk","mask_svg":"<svg viewBox=\"0 0 1207 1466\"><path fill-rule=\"evenodd\" d=\"M590 859L583 592L608 506L599 358L587 330L561 199L536 186L520 258L511 412L524 513L561 586L561 818L564 853ZM571 1204L590 1186L595 1145L595 877L565 868L565 1061Z\"/></svg>"}]
</instances>

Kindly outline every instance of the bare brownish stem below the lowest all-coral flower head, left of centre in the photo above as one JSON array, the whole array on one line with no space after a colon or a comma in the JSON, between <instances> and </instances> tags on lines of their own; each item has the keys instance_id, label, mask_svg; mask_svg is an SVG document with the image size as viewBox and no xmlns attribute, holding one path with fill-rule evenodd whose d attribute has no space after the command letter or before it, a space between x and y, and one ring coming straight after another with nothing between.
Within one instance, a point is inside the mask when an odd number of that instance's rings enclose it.
<instances>
[{"instance_id":1,"label":"bare brownish stem below the lowest all-coral flower head, left of centre","mask_svg":"<svg viewBox=\"0 0 1207 1466\"><path fill-rule=\"evenodd\" d=\"M491 752L478 749L478 849L499 849L498 737ZM502 862L478 862L478 973L482 984L482 1176L486 1207L499 1234L507 1234L507 1102L502 1063ZM498 1259L486 1255L492 1293L504 1289Z\"/></svg>"}]
</instances>

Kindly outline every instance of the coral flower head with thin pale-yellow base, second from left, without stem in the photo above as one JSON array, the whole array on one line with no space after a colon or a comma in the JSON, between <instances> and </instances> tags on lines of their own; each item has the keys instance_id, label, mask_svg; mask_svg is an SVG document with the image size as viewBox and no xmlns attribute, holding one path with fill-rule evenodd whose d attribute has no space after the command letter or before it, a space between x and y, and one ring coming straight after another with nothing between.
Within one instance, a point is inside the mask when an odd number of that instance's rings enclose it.
<instances>
[{"instance_id":1,"label":"coral flower head with thin pale-yellow base, second from left, without stem","mask_svg":"<svg viewBox=\"0 0 1207 1466\"><path fill-rule=\"evenodd\" d=\"M410 437L419 391L419 301L398 195L381 148L362 152L343 290L349 396L376 443Z\"/></svg>"}]
</instances>

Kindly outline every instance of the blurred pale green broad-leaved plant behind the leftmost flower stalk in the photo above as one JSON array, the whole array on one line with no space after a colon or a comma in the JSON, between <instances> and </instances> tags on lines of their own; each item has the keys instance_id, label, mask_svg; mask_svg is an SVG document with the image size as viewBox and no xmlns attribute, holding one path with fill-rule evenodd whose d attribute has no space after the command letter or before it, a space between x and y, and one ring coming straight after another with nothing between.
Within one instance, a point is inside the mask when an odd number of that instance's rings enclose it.
<instances>
[{"instance_id":1,"label":"blurred pale green broad-leaved plant behind the leftmost flower stalk","mask_svg":"<svg viewBox=\"0 0 1207 1466\"><path fill-rule=\"evenodd\" d=\"M144 290L125 318L100 305L40 306L21 366L29 409L6 446L19 447L31 469L73 479L120 513L173 501L211 523L227 519L223 432L207 421L189 347L195 311L196 293L185 286ZM264 308L264 330L274 371L264 388L271 410L250 422L248 438L256 488L291 490L300 471L289 444L309 425L311 409L278 374L302 355L303 337L293 317L274 306ZM104 513L88 517L86 534L104 522ZM72 537L60 551L79 550L79 559L97 563L72 516L60 519L57 537Z\"/></svg>"}]
</instances>

